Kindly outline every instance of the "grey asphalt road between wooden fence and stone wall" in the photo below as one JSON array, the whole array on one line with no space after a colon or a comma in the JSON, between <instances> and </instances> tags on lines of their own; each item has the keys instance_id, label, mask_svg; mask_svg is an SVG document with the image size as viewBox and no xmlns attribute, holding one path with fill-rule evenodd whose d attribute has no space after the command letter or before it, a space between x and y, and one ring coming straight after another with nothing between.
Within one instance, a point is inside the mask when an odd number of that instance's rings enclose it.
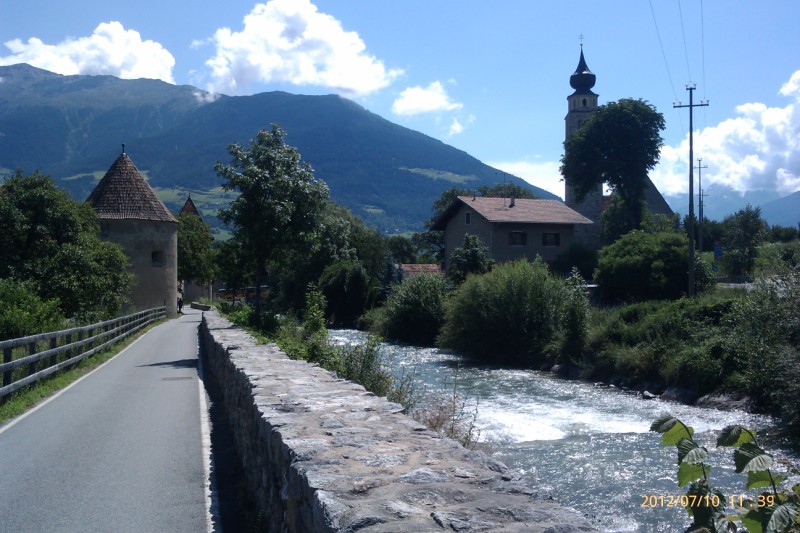
<instances>
[{"instance_id":1,"label":"grey asphalt road between wooden fence and stone wall","mask_svg":"<svg viewBox=\"0 0 800 533\"><path fill-rule=\"evenodd\" d=\"M0 427L0 531L214 529L201 315L186 313Z\"/></svg>"}]
</instances>

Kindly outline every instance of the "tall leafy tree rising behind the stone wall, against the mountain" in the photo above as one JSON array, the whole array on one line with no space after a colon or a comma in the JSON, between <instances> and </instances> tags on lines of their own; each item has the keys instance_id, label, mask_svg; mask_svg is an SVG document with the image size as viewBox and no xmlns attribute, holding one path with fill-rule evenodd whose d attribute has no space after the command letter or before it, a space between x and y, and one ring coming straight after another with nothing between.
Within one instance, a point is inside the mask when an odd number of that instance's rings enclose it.
<instances>
[{"instance_id":1,"label":"tall leafy tree rising behind the stone wall, against the mountain","mask_svg":"<svg viewBox=\"0 0 800 533\"><path fill-rule=\"evenodd\" d=\"M297 149L284 142L285 136L273 124L270 131L259 131L247 147L230 145L230 165L215 165L225 180L223 189L240 193L220 210L219 218L233 226L237 242L251 255L256 286L261 286L269 261L279 261L281 254L315 230L328 199L327 185L314 177ZM260 320L261 300L256 302Z\"/></svg>"}]
</instances>

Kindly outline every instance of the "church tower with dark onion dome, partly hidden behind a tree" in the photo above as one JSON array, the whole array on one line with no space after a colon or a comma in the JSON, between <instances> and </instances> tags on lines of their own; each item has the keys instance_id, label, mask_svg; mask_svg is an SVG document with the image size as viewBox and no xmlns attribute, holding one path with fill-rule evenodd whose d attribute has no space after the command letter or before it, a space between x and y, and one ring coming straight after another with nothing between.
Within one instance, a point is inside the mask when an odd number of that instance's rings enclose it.
<instances>
[{"instance_id":1,"label":"church tower with dark onion dome, partly hidden behind a tree","mask_svg":"<svg viewBox=\"0 0 800 533\"><path fill-rule=\"evenodd\" d=\"M592 92L595 84L595 75L586 66L583 58L583 45L581 45L581 58L578 68L569 77L569 84L575 89L571 95L567 96L567 116L566 136L568 139L572 133L581 127L581 124L588 119L592 112L597 109L597 95ZM603 186L598 185L597 189L586 195L582 202L578 203L575 198L575 187L570 182L569 176L564 176L564 202L568 207L582 214L594 224L576 227L575 238L583 244L593 248L600 247L600 214L603 211Z\"/></svg>"}]
</instances>

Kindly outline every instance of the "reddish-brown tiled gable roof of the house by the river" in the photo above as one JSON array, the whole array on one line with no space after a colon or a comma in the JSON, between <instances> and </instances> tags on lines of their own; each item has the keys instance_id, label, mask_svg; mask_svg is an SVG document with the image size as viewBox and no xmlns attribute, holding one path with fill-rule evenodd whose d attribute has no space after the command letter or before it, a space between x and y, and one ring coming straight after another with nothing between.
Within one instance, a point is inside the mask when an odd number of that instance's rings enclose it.
<instances>
[{"instance_id":1,"label":"reddish-brown tiled gable roof of the house by the river","mask_svg":"<svg viewBox=\"0 0 800 533\"><path fill-rule=\"evenodd\" d=\"M573 211L558 200L529 200L520 198L488 198L459 196L450 209L436 221L434 229L444 229L447 220L463 203L489 222L516 222L527 224L592 224L592 221Z\"/></svg>"}]
</instances>

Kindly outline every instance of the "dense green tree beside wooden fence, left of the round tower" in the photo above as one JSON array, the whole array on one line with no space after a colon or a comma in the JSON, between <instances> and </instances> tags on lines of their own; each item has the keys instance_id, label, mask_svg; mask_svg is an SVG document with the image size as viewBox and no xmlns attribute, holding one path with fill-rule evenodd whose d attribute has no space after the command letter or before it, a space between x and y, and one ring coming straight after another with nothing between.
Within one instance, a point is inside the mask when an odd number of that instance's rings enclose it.
<instances>
[{"instance_id":1,"label":"dense green tree beside wooden fence, left of the round tower","mask_svg":"<svg viewBox=\"0 0 800 533\"><path fill-rule=\"evenodd\" d=\"M128 258L100 240L97 215L38 172L0 187L0 278L27 282L65 316L111 318L128 297Z\"/></svg>"}]
</instances>

